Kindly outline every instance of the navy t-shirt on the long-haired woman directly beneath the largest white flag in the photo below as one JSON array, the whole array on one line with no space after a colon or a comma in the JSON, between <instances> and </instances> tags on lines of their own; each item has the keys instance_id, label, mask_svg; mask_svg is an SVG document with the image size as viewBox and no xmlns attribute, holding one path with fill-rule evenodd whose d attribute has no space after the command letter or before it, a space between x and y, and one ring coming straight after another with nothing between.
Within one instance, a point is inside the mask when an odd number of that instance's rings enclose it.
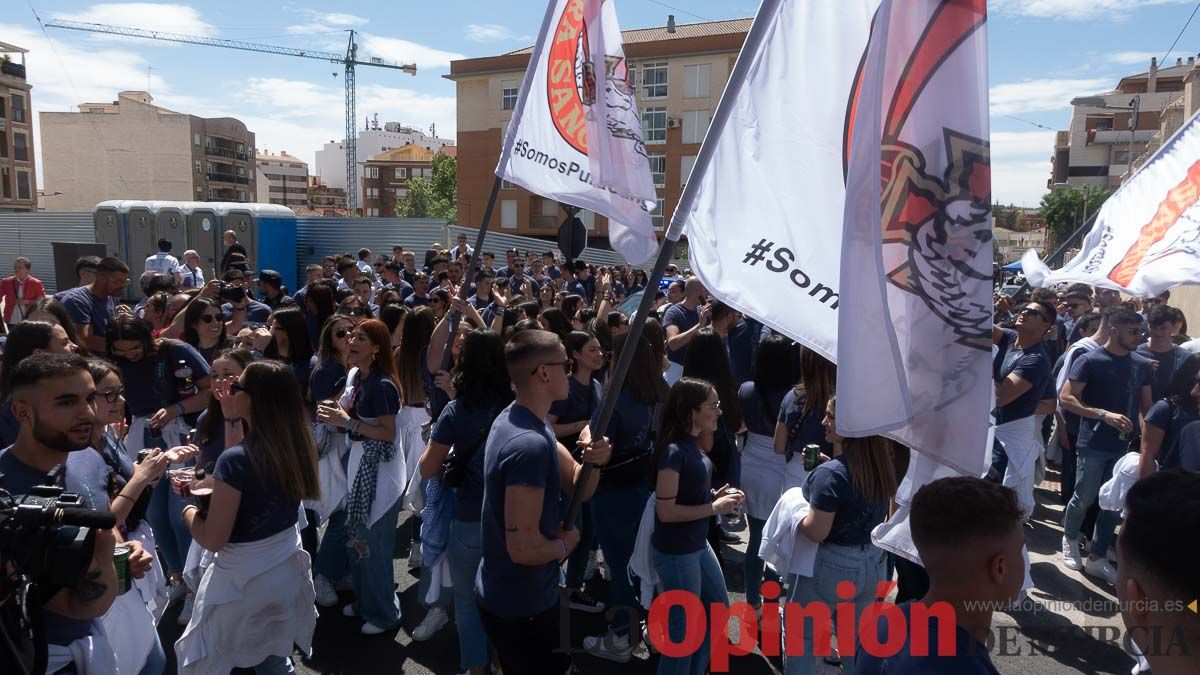
<instances>
[{"instance_id":1,"label":"navy t-shirt on the long-haired woman directly beneath the largest white flag","mask_svg":"<svg viewBox=\"0 0 1200 675\"><path fill-rule=\"evenodd\" d=\"M888 515L888 503L870 503L854 490L850 465L836 456L818 465L804 483L804 498L817 510L834 514L824 543L860 546L871 543L871 530Z\"/></svg>"}]
</instances>

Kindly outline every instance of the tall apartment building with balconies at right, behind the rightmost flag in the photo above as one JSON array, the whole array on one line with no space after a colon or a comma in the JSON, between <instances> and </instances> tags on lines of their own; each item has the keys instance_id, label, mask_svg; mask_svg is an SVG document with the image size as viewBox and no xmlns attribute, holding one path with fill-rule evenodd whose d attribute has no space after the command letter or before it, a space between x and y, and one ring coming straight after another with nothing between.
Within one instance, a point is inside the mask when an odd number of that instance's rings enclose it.
<instances>
[{"instance_id":1,"label":"tall apartment building with balconies at right, behind the rightmost flag","mask_svg":"<svg viewBox=\"0 0 1200 675\"><path fill-rule=\"evenodd\" d=\"M1121 78L1112 91L1072 101L1070 125L1055 135L1051 174L1046 186L1116 187L1130 173L1130 163L1153 147L1165 117L1181 107L1196 58L1176 59L1159 67L1150 60L1146 72ZM1136 104L1133 130L1129 119ZM1174 104L1174 106L1172 106ZM1182 113L1180 113L1182 117Z\"/></svg>"}]
</instances>

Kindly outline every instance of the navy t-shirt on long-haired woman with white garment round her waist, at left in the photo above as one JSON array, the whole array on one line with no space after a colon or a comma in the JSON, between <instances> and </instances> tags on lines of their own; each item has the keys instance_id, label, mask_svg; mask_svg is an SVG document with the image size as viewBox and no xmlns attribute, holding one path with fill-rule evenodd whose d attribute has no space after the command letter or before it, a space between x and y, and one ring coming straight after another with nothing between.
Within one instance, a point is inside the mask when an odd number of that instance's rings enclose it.
<instances>
[{"instance_id":1,"label":"navy t-shirt on long-haired woman with white garment round her waist, at left","mask_svg":"<svg viewBox=\"0 0 1200 675\"><path fill-rule=\"evenodd\" d=\"M241 492L230 544L258 542L296 524L299 500L288 498L274 479L260 476L244 444L221 453L212 476Z\"/></svg>"}]
</instances>

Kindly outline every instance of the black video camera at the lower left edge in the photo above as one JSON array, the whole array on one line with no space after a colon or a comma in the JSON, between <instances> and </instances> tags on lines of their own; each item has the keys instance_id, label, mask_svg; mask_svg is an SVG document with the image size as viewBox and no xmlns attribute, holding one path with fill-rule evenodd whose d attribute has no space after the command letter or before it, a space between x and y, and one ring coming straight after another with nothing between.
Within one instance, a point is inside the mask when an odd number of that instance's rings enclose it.
<instances>
[{"instance_id":1,"label":"black video camera at the lower left edge","mask_svg":"<svg viewBox=\"0 0 1200 675\"><path fill-rule=\"evenodd\" d=\"M88 572L96 530L116 525L65 492L55 467L28 495L2 489L0 476L0 673L46 671L46 637L38 608Z\"/></svg>"}]
</instances>

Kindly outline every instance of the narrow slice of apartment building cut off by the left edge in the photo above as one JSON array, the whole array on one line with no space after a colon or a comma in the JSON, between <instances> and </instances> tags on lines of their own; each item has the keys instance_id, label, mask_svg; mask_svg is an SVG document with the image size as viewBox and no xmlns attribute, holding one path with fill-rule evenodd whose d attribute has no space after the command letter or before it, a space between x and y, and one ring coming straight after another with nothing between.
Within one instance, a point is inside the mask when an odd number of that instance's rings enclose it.
<instances>
[{"instance_id":1,"label":"narrow slice of apartment building cut off by the left edge","mask_svg":"<svg viewBox=\"0 0 1200 675\"><path fill-rule=\"evenodd\" d=\"M0 211L37 210L26 49L0 42Z\"/></svg>"}]
</instances>

